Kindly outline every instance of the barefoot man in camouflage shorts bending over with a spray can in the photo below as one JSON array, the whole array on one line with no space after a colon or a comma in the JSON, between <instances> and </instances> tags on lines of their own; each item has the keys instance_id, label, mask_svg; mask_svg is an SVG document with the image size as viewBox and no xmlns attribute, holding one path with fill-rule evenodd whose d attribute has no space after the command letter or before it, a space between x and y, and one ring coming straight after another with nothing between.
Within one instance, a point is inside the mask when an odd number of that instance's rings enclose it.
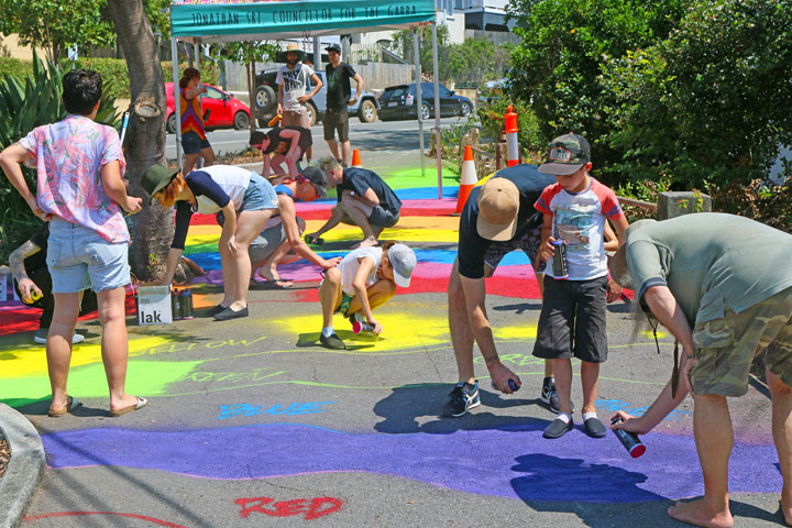
<instances>
[{"instance_id":1,"label":"barefoot man in camouflage shorts bending over with a spray can","mask_svg":"<svg viewBox=\"0 0 792 528\"><path fill-rule=\"evenodd\" d=\"M648 432L690 391L704 497L676 503L668 513L696 526L734 526L726 398L746 394L751 363L765 353L783 476L781 510L792 524L792 235L747 218L701 212L639 220L625 241L610 261L614 279L635 289L636 301L669 329L683 354L649 410L639 418L619 411L624 422L614 427Z\"/></svg>"}]
</instances>

